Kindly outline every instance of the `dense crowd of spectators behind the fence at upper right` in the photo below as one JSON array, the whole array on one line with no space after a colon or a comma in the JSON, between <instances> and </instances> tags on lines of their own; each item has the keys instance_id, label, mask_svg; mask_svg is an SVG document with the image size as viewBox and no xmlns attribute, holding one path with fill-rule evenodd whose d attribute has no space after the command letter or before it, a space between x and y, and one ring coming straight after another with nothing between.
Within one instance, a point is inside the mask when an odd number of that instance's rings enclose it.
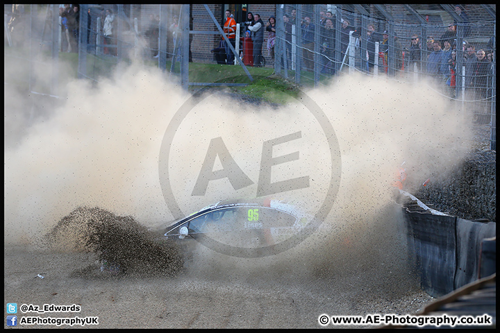
<instances>
[{"instance_id":1,"label":"dense crowd of spectators behind the fence at upper right","mask_svg":"<svg viewBox=\"0 0 500 333\"><path fill-rule=\"evenodd\" d=\"M494 37L490 38L490 42L486 47L481 46L476 50L474 44L467 42L465 38L471 34L471 20L465 9L457 5L454 7L456 15L462 20L463 29L463 54L462 64L465 66L465 88L472 92L476 99L489 99L492 96L492 61L494 59ZM226 12L226 15L231 15L231 12ZM318 17L317 22L314 21ZM340 59L335 57L337 37L336 18L330 11L319 11L319 15L306 14L303 17L297 17L297 10L290 10L290 13L285 13L283 17L284 38L283 38L283 58L280 59L281 66L291 69L292 65L292 27L295 31L301 29L300 40L297 40L297 48L301 49L301 69L304 71L313 72L319 71L324 75L334 75L339 66L335 64L345 65L349 42L351 35L355 37L356 51L359 49L366 51L366 58L362 60L365 64L367 73L374 73L374 68L378 65L378 72L392 75L403 71L412 71L418 74L429 76L444 87L447 87L447 92L451 97L455 96L458 60L457 60L457 25L454 21L447 24L444 31L439 37L428 36L422 48L422 38L418 31L412 33L408 39L408 45L403 45L396 32L389 32L383 28L387 28L386 24L369 23L362 29L361 27L351 26L351 22L347 18L341 18L342 26L340 28ZM247 22L242 22L244 26L245 37L240 41L253 43L251 51L253 51L253 61L246 62L245 65L255 67L262 66L262 49L264 33L267 35L267 51L269 58L274 65L276 61L274 47L276 40L276 17L269 15L268 21L264 24L260 15L248 13ZM234 22L233 22L234 23ZM383 30L383 32L381 32ZM365 35L361 35L365 31ZM319 48L316 48L316 34L319 33ZM297 33L295 34L297 36ZM223 40L221 40L224 43ZM378 51L376 49L378 45ZM361 46L364 46L362 48ZM243 46L240 49L245 49ZM319 49L319 51L316 51ZM246 49L245 49L246 50ZM319 53L319 57L315 54ZM390 54L392 53L392 54ZM361 58L364 58L361 56ZM234 63L233 54L228 55L226 49L226 59L219 58L218 63ZM318 61L319 60L319 61ZM286 65L285 65L286 64ZM316 68L315 68L316 67ZM390 70L392 69L392 70Z\"/></svg>"}]
</instances>

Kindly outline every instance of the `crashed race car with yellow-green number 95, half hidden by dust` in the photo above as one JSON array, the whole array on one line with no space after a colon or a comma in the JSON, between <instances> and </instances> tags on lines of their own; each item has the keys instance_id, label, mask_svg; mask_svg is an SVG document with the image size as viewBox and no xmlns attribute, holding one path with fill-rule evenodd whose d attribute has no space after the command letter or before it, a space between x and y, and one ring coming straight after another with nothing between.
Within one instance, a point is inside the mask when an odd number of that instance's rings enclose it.
<instances>
[{"instance_id":1,"label":"crashed race car with yellow-green number 95, half hidden by dust","mask_svg":"<svg viewBox=\"0 0 500 333\"><path fill-rule=\"evenodd\" d=\"M197 243L217 250L269 248L297 234L310 216L281 200L224 200L175 221L164 229L165 241L178 241L186 253ZM219 252L222 252L219 250Z\"/></svg>"}]
</instances>

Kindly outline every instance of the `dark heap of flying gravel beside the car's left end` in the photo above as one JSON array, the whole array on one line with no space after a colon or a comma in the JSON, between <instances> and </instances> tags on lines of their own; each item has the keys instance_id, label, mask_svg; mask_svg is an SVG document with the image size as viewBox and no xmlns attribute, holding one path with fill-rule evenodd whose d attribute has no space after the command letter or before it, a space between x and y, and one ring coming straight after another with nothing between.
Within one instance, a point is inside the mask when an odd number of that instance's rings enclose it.
<instances>
[{"instance_id":1,"label":"dark heap of flying gravel beside the car's left end","mask_svg":"<svg viewBox=\"0 0 500 333\"><path fill-rule=\"evenodd\" d=\"M174 275L183 268L176 244L160 244L132 216L117 216L99 207L77 207L45 239L53 249L95 253L100 262L119 266L122 274Z\"/></svg>"}]
</instances>

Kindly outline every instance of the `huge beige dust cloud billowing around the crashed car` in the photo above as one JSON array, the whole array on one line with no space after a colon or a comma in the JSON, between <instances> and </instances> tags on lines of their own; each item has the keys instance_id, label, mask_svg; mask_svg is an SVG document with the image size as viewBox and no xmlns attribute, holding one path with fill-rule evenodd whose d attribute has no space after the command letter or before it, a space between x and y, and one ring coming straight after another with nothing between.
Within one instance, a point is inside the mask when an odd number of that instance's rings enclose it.
<instances>
[{"instance_id":1,"label":"huge beige dust cloud billowing around the crashed car","mask_svg":"<svg viewBox=\"0 0 500 333\"><path fill-rule=\"evenodd\" d=\"M19 70L5 69L6 75ZM42 80L48 74L40 75ZM15 87L4 89L7 244L34 243L82 206L133 216L147 227L176 217L158 180L165 130L189 98L172 78L138 64L119 67L95 85L70 82L63 99L34 110L35 97L26 98ZM363 272L376 284L394 287L401 280L398 274L408 272L401 264L400 213L392 206L394 173L404 162L409 191L431 174L446 173L468 151L469 117L425 81L415 85L351 75L305 93L326 114L338 139L342 172L335 198L325 198L332 167L325 134L297 101L276 109L208 94L177 128L169 174L184 214L226 198L255 198L263 142L296 132L303 139L272 148L273 156L299 151L297 160L274 166L272 182L309 176L310 186L272 196L313 212L324 200L335 200L322 227L297 248L241 259L201 247L199 269L217 276L219 265L231 264L247 279L269 274L307 280L310 274ZM228 179L213 180L205 196L192 196L210 140L216 137L224 139L251 185L235 189ZM220 168L216 160L213 169ZM381 278L390 275L390 283Z\"/></svg>"}]
</instances>

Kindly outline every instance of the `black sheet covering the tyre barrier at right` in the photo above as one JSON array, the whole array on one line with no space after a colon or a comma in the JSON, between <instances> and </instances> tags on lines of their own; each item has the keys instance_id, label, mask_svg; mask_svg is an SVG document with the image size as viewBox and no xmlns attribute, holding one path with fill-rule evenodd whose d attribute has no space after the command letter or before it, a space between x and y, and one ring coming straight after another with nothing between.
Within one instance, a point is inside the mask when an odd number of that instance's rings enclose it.
<instances>
[{"instance_id":1,"label":"black sheet covering the tyre barrier at right","mask_svg":"<svg viewBox=\"0 0 500 333\"><path fill-rule=\"evenodd\" d=\"M426 293L440 297L478 280L481 244L483 239L496 236L496 223L403 210L410 261ZM495 248L488 245L485 254L492 257ZM494 264L487 270L496 272Z\"/></svg>"}]
</instances>

